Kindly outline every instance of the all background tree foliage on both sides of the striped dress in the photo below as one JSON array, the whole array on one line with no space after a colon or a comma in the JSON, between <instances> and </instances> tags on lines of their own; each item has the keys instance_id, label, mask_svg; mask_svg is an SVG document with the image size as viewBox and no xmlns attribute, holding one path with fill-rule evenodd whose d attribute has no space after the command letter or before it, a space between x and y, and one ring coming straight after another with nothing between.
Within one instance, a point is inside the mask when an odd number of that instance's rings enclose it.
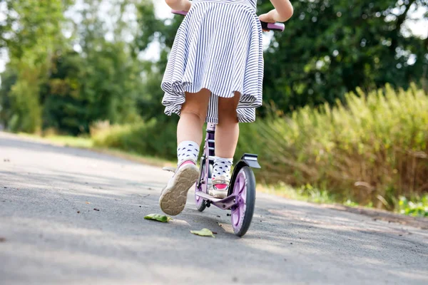
<instances>
[{"instance_id":1,"label":"all background tree foliage on both sides of the striped dress","mask_svg":"<svg viewBox=\"0 0 428 285\"><path fill-rule=\"evenodd\" d=\"M111 9L101 14L107 2ZM151 0L0 3L6 15L0 48L10 58L0 89L6 128L77 135L98 120L169 120L160 84L182 16L158 19ZM295 15L283 33L271 33L265 51L264 100L279 113L335 104L357 87L407 88L412 81L426 86L428 40L406 31L405 23L427 0L292 4ZM258 14L268 9L270 1L259 1ZM141 59L153 45L159 46L159 59Z\"/></svg>"}]
</instances>

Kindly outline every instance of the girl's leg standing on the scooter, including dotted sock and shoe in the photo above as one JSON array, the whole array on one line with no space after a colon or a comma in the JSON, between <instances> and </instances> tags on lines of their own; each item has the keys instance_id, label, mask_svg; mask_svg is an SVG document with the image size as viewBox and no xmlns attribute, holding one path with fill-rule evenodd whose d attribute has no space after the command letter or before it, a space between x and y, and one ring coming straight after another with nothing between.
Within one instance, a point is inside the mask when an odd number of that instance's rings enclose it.
<instances>
[{"instance_id":1,"label":"girl's leg standing on the scooter, including dotted sock and shoe","mask_svg":"<svg viewBox=\"0 0 428 285\"><path fill-rule=\"evenodd\" d=\"M240 93L233 98L218 98L218 125L215 128L215 160L213 189L210 195L223 198L227 195L230 167L238 144L239 125L236 107Z\"/></svg>"}]
</instances>

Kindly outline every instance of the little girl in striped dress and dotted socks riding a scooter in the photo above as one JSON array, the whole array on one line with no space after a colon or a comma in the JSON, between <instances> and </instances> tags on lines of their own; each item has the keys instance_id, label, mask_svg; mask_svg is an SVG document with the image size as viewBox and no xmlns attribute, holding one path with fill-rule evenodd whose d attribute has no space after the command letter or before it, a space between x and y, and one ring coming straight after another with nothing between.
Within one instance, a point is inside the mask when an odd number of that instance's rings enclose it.
<instances>
[{"instance_id":1,"label":"little girl in striped dress and dotted socks riding a scooter","mask_svg":"<svg viewBox=\"0 0 428 285\"><path fill-rule=\"evenodd\" d=\"M289 0L270 0L275 9L258 17L257 0L165 0L188 11L178 28L162 81L165 114L180 115L178 167L162 190L166 214L180 214L199 177L196 160L203 124L215 123L215 161L209 194L228 194L230 167L238 143L238 123L254 122L262 105L263 43L260 21L292 16Z\"/></svg>"}]
</instances>

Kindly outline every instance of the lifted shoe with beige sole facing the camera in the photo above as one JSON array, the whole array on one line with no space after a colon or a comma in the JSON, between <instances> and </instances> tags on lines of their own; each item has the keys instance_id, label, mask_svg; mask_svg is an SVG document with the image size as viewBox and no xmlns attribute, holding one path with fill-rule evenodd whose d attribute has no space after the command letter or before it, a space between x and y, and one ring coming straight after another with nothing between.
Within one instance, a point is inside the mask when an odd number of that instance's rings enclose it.
<instances>
[{"instance_id":1,"label":"lifted shoe with beige sole facing the camera","mask_svg":"<svg viewBox=\"0 0 428 285\"><path fill-rule=\"evenodd\" d=\"M187 194L196 180L199 178L199 170L195 165L184 165L180 167L173 177L173 185L168 185L162 191L159 206L165 214L175 216L180 214L185 207Z\"/></svg>"}]
</instances>

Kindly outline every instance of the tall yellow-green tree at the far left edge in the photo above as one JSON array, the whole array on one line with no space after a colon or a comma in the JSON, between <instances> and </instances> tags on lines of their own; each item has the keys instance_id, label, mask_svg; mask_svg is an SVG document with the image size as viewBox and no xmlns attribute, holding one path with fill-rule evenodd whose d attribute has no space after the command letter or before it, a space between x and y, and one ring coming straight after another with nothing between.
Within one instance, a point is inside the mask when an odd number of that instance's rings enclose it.
<instances>
[{"instance_id":1,"label":"tall yellow-green tree at the far left edge","mask_svg":"<svg viewBox=\"0 0 428 285\"><path fill-rule=\"evenodd\" d=\"M0 24L0 45L6 46L9 68L17 75L9 92L4 93L9 97L9 128L35 132L41 128L39 88L48 77L49 58L55 46L61 44L61 21L67 2L2 2L6 19Z\"/></svg>"}]
</instances>

